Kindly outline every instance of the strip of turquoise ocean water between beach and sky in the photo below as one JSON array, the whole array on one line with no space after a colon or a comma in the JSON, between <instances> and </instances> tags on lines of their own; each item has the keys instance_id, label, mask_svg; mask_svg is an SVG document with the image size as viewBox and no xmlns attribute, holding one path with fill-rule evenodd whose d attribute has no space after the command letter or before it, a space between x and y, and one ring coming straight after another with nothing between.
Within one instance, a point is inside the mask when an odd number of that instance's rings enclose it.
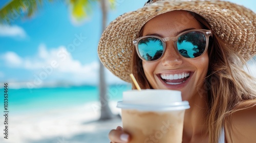
<instances>
[{"instance_id":1,"label":"strip of turquoise ocean water between beach and sky","mask_svg":"<svg viewBox=\"0 0 256 143\"><path fill-rule=\"evenodd\" d=\"M122 92L130 89L131 85L111 85L107 89L108 100L119 101ZM0 92L4 95L3 88ZM14 114L61 109L97 101L97 86L8 89L8 110ZM3 96L0 98L0 107L4 108Z\"/></svg>"}]
</instances>

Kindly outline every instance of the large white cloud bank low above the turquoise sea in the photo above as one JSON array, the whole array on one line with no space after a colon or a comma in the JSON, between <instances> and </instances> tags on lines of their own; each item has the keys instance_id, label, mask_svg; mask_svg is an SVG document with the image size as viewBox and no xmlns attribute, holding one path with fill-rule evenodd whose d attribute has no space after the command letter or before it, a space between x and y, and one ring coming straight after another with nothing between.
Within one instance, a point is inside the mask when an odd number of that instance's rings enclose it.
<instances>
[{"instance_id":1,"label":"large white cloud bank low above the turquoise sea","mask_svg":"<svg viewBox=\"0 0 256 143\"><path fill-rule=\"evenodd\" d=\"M52 81L58 81L58 84L96 85L99 81L99 61L81 64L80 61L73 59L65 46L48 50L44 44L41 44L38 47L38 53L32 57L22 58L14 52L7 52L3 57L5 57L3 58L5 63L12 68L32 70L35 74L31 75L33 80L30 80L30 83L36 86L49 84ZM108 83L124 83L109 70L105 73Z\"/></svg>"}]
</instances>

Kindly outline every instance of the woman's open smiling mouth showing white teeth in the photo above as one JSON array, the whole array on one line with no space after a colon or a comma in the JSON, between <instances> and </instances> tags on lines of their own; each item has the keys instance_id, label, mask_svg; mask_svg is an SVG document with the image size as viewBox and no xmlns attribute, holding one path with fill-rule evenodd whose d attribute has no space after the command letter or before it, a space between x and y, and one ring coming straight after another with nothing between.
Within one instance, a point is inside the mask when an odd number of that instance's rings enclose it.
<instances>
[{"instance_id":1,"label":"woman's open smiling mouth showing white teeth","mask_svg":"<svg viewBox=\"0 0 256 143\"><path fill-rule=\"evenodd\" d=\"M161 79L170 85L177 85L185 82L190 76L189 72L183 72L179 74L161 74Z\"/></svg>"}]
</instances>

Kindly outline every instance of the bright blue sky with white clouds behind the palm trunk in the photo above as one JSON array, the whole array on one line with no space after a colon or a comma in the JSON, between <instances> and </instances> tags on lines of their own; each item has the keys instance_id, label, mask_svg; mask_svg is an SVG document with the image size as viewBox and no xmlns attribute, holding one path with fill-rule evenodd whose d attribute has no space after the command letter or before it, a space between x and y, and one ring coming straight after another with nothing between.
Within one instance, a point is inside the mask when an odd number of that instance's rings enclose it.
<instances>
[{"instance_id":1,"label":"bright blue sky with white clouds behind the palm trunk","mask_svg":"<svg viewBox=\"0 0 256 143\"><path fill-rule=\"evenodd\" d=\"M9 1L0 1L2 8ZM233 0L254 12L256 1ZM116 0L109 22L143 6L141 0ZM44 3L31 18L15 17L11 26L0 25L0 82L13 88L33 85L97 84L97 44L101 34L100 7L76 23L65 3ZM106 71L108 83L121 82Z\"/></svg>"}]
</instances>

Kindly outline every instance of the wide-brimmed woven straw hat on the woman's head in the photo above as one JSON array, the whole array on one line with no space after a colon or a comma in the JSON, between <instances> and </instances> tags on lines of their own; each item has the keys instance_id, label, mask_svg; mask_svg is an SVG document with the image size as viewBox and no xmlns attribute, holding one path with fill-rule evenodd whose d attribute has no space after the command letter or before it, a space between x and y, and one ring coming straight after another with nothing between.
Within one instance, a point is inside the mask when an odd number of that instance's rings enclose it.
<instances>
[{"instance_id":1,"label":"wide-brimmed woven straw hat on the woman's head","mask_svg":"<svg viewBox=\"0 0 256 143\"><path fill-rule=\"evenodd\" d=\"M131 82L130 61L135 48L132 41L148 20L174 10L192 11L204 17L211 29L245 59L256 55L256 14L253 11L225 1L153 0L110 23L99 41L100 61L114 75Z\"/></svg>"}]
</instances>

